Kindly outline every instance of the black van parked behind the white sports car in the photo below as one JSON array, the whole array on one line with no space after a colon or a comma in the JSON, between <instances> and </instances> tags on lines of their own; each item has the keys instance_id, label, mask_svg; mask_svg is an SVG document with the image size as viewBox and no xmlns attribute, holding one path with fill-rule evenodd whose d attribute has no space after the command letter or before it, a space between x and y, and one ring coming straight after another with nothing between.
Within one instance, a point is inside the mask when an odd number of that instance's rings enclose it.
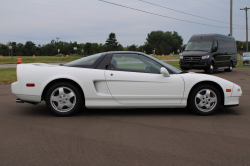
<instances>
[{"instance_id":1,"label":"black van parked behind the white sports car","mask_svg":"<svg viewBox=\"0 0 250 166\"><path fill-rule=\"evenodd\" d=\"M193 35L183 53L180 68L203 69L212 74L215 69L232 71L237 64L237 47L234 37L219 34Z\"/></svg>"}]
</instances>

